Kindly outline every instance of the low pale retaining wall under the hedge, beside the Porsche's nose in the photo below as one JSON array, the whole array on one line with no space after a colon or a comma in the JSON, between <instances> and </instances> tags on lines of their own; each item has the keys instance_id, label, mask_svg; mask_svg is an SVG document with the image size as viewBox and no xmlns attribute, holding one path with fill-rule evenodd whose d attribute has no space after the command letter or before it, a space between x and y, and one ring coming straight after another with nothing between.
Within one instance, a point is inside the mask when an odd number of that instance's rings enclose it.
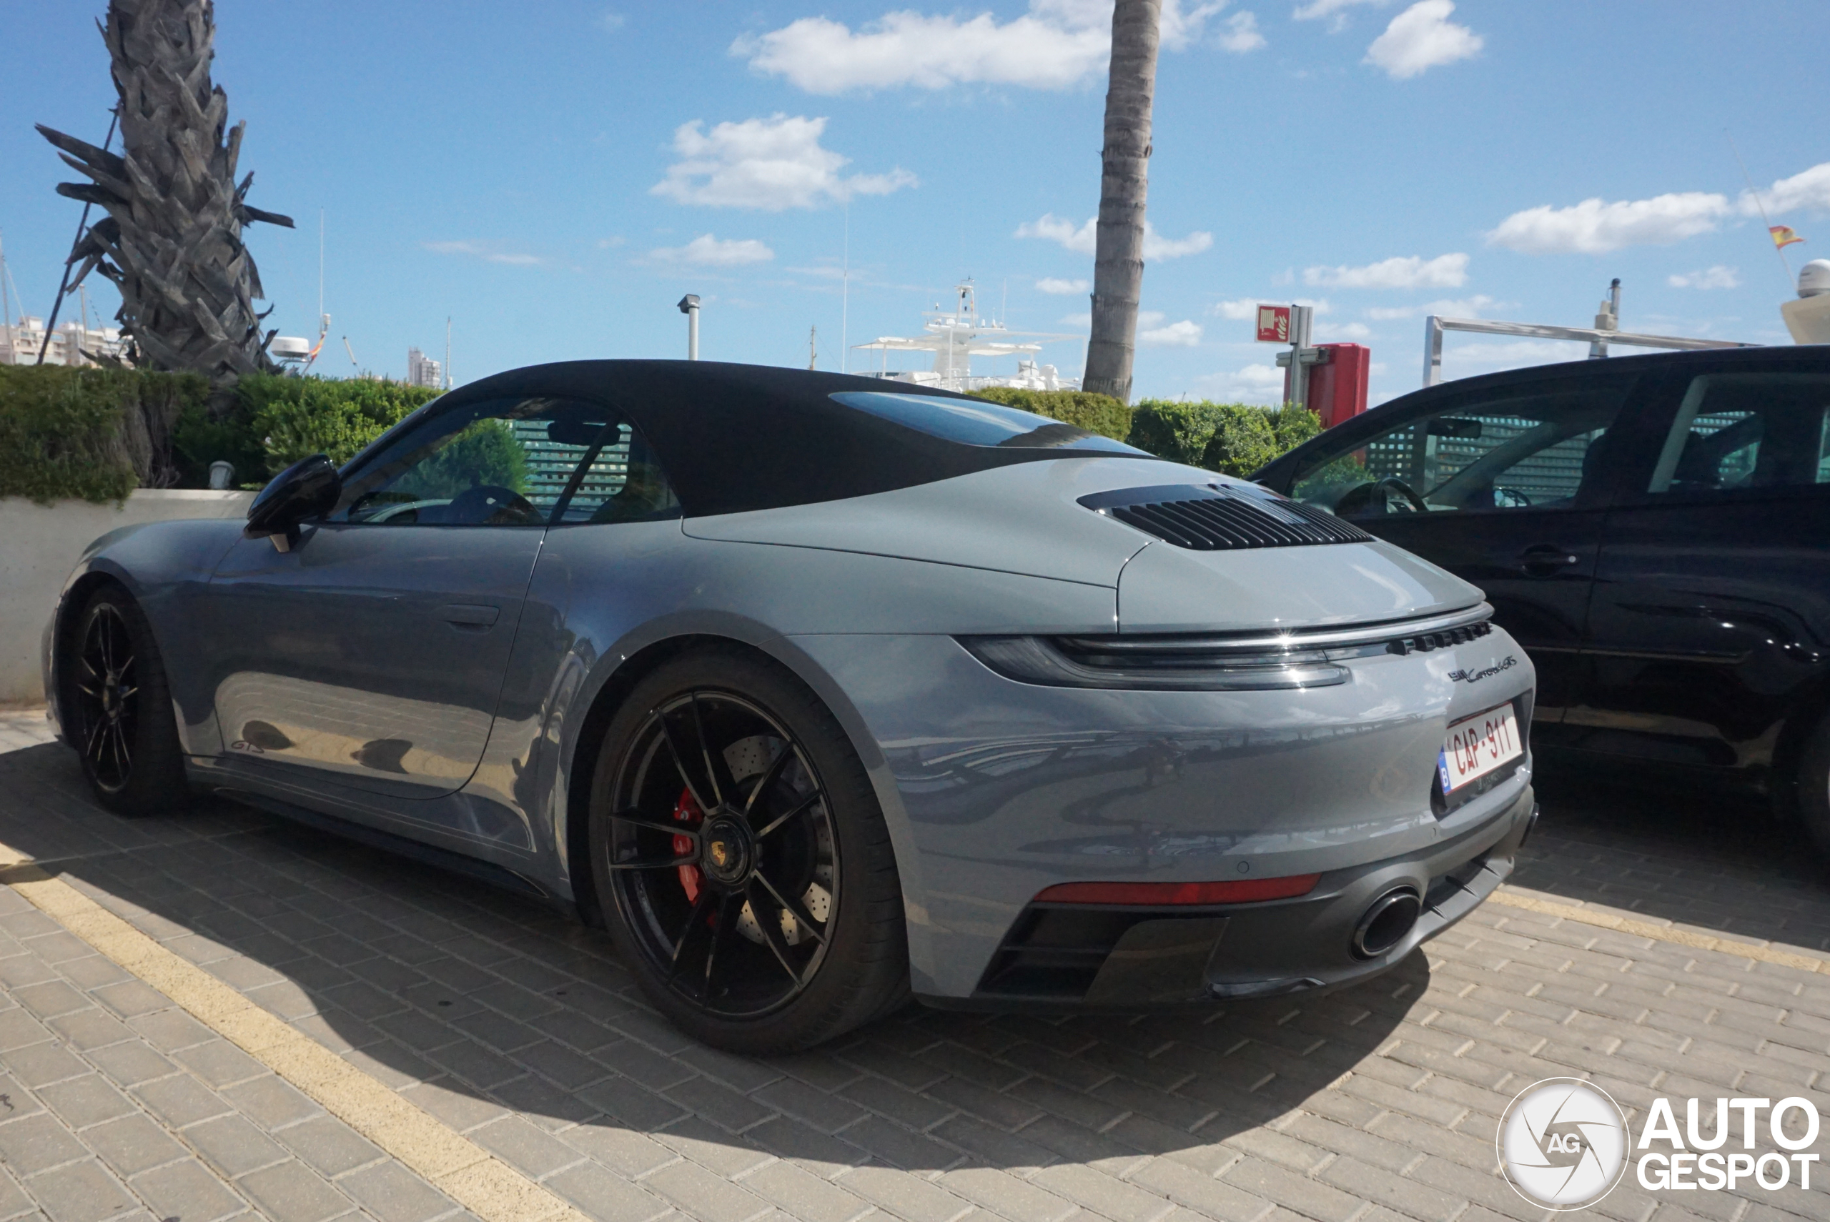
<instances>
[{"instance_id":1,"label":"low pale retaining wall under the hedge, beside the Porsche's nose","mask_svg":"<svg viewBox=\"0 0 1830 1222\"><path fill-rule=\"evenodd\" d=\"M38 642L77 556L97 536L141 521L243 518L253 492L139 488L117 509L0 498L0 704L44 699Z\"/></svg>"}]
</instances>

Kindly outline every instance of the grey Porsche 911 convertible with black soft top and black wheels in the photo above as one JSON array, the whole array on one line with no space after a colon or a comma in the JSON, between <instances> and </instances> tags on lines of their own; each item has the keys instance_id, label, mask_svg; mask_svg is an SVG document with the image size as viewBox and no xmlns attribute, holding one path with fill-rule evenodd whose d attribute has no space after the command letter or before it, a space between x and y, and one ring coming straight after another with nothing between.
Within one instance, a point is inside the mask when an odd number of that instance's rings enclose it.
<instances>
[{"instance_id":1,"label":"grey Porsche 911 convertible with black soft top and black wheels","mask_svg":"<svg viewBox=\"0 0 1830 1222\"><path fill-rule=\"evenodd\" d=\"M576 906L723 1048L1378 973L1532 827L1534 671L1323 510L999 404L586 360L97 540L46 691L190 788Z\"/></svg>"}]
</instances>

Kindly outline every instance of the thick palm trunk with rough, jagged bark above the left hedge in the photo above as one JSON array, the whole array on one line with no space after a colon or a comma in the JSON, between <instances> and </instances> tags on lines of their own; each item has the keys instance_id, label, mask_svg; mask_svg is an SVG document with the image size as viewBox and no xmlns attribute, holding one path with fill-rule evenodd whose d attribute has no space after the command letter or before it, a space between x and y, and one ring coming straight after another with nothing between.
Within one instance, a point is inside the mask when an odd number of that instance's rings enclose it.
<instances>
[{"instance_id":1,"label":"thick palm trunk with rough, jagged bark above the left hedge","mask_svg":"<svg viewBox=\"0 0 1830 1222\"><path fill-rule=\"evenodd\" d=\"M273 368L242 225L293 221L243 203L253 174L234 181L245 124L223 139L229 97L210 84L210 0L110 0L102 42L121 95L123 155L38 124L92 179L59 183L57 194L108 210L71 251L82 267L70 287L99 267L121 289L115 316L137 364L203 373L225 390Z\"/></svg>"}]
</instances>

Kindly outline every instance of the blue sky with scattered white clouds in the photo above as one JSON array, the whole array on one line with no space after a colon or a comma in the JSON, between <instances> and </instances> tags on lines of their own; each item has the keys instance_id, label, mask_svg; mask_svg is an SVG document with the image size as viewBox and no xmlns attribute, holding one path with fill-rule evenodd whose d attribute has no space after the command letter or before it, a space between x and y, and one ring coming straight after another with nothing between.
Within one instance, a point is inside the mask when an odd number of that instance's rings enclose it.
<instances>
[{"instance_id":1,"label":"blue sky with scattered white clouds","mask_svg":"<svg viewBox=\"0 0 1830 1222\"><path fill-rule=\"evenodd\" d=\"M842 329L913 333L964 276L1012 327L1083 333L1109 2L897 4L223 0L249 199L298 220L247 234L271 322L317 333L322 209L326 373L353 370L348 337L401 375L410 344L443 353L447 316L458 382L684 355L683 293L706 359L803 366L818 327L836 368ZM37 315L81 205L31 124L102 135L101 11L40 5L0 44L0 236ZM1259 300L1318 302L1318 338L1371 346L1374 401L1418 384L1424 313L1587 326L1610 276L1625 329L1784 342L1790 289L1726 134L1808 240L1793 271L1830 254L1830 5L1168 13L1140 397L1272 397ZM1082 351L1043 360L1078 373ZM1446 373L1566 351L1451 337Z\"/></svg>"}]
</instances>

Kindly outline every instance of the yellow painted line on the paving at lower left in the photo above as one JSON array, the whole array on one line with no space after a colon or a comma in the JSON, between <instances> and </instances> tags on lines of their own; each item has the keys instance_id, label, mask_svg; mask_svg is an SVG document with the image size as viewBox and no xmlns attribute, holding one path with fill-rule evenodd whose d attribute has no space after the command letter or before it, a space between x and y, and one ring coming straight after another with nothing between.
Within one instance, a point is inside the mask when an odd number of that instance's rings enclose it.
<instances>
[{"instance_id":1,"label":"yellow painted line on the paving at lower left","mask_svg":"<svg viewBox=\"0 0 1830 1222\"><path fill-rule=\"evenodd\" d=\"M159 990L199 1023L317 1099L483 1222L584 1222L584 1215L445 1121L106 907L0 845L0 882Z\"/></svg>"}]
</instances>

